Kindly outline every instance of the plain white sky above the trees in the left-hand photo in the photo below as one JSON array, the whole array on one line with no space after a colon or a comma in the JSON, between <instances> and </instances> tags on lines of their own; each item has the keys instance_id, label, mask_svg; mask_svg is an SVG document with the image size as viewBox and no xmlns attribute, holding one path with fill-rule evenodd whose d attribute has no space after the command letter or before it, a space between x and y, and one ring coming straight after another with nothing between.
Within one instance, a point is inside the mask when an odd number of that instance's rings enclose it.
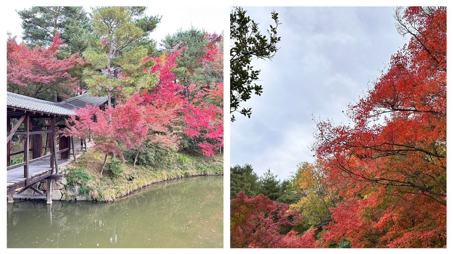
<instances>
[{"instance_id":1,"label":"plain white sky above the trees in the left-hand photo","mask_svg":"<svg viewBox=\"0 0 453 254\"><path fill-rule=\"evenodd\" d=\"M6 12L8 20L7 30L13 36L17 36L17 41L20 42L22 36L22 20L16 11L28 9L31 6L15 6L6 7L9 10ZM90 7L84 7L87 12L91 12ZM146 15L162 16L161 22L158 24L155 31L150 36L158 42L162 41L167 34L173 34L179 29L189 29L191 26L197 29L203 29L209 33L223 32L223 17L225 10L221 7L210 6L209 11L200 8L199 6L175 6L168 8L165 6L153 6L146 9Z\"/></svg>"}]
</instances>

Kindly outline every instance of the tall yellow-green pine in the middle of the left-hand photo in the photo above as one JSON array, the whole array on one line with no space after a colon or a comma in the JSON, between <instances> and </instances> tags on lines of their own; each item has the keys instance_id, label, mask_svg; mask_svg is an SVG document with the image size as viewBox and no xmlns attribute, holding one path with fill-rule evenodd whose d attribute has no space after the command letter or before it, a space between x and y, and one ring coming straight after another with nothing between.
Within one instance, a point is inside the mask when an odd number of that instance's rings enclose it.
<instances>
[{"instance_id":1,"label":"tall yellow-green pine in the middle of the left-hand photo","mask_svg":"<svg viewBox=\"0 0 453 254\"><path fill-rule=\"evenodd\" d=\"M85 82L96 95L107 95L109 106L119 91L132 94L156 84L156 75L143 72L153 61L143 61L150 51L146 37L160 22L144 15L145 7L100 7L93 10L92 41L84 57L89 66ZM146 41L148 42L147 46Z\"/></svg>"}]
</instances>

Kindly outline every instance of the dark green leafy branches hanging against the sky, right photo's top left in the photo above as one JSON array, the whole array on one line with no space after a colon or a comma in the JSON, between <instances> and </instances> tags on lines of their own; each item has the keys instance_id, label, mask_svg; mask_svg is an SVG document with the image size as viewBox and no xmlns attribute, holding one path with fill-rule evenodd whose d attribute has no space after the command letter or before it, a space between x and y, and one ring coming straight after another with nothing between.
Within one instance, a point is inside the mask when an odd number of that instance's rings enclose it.
<instances>
[{"instance_id":1,"label":"dark green leafy branches hanging against the sky, right photo's top left","mask_svg":"<svg viewBox=\"0 0 453 254\"><path fill-rule=\"evenodd\" d=\"M272 59L278 50L277 43L280 37L277 36L278 13L272 11L271 18L273 25L269 26L266 35L262 35L258 23L246 15L241 7L235 7L230 13L230 34L232 47L230 49L230 112L240 110L241 102L251 98L252 93L260 96L263 92L261 85L253 82L259 78L260 70L251 66L254 58ZM242 108L239 113L250 118L251 108ZM231 120L235 120L232 114Z\"/></svg>"}]
</instances>

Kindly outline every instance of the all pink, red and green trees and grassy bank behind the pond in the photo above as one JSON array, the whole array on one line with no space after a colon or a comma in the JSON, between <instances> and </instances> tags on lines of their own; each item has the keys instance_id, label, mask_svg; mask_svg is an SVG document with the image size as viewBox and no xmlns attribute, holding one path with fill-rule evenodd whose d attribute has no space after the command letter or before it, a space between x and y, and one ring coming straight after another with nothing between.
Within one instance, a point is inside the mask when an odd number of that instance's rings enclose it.
<instances>
[{"instance_id":1,"label":"all pink, red and green trees and grassy bank behind the pond","mask_svg":"<svg viewBox=\"0 0 453 254\"><path fill-rule=\"evenodd\" d=\"M74 105L73 114L58 118L60 137L95 145L64 165L61 181L48 181L48 199L108 202L151 183L223 173L223 36L191 27L157 41L152 32L161 17L146 9L18 13L23 43L8 38L7 90L54 102L84 93L102 97L100 105ZM30 17L43 18L37 24ZM19 151L27 150L23 144Z\"/></svg>"}]
</instances>

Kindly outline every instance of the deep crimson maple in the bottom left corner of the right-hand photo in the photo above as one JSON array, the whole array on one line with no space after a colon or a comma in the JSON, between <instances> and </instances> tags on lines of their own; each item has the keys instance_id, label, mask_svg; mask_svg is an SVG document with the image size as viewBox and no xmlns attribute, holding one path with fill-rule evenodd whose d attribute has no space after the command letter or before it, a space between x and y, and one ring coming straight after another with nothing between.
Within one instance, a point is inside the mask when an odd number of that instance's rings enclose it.
<instances>
[{"instance_id":1,"label":"deep crimson maple in the bottom left corner of the right-hand photo","mask_svg":"<svg viewBox=\"0 0 453 254\"><path fill-rule=\"evenodd\" d=\"M302 218L287 204L260 194L248 198L244 192L231 201L231 247L314 248L315 229L297 234L292 228Z\"/></svg>"}]
</instances>

